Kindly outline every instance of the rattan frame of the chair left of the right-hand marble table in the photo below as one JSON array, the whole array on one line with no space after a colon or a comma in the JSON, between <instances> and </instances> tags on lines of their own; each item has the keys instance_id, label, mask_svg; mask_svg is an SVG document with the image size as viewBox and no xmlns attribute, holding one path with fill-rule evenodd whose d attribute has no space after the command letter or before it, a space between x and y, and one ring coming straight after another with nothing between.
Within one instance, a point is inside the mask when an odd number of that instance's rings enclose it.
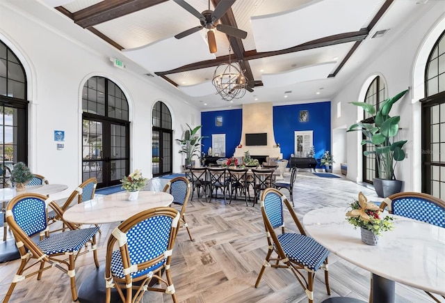
<instances>
[{"instance_id":1,"label":"rattan frame of the chair left of the right-hand marble table","mask_svg":"<svg viewBox=\"0 0 445 303\"><path fill-rule=\"evenodd\" d=\"M298 227L298 231L300 231L301 235L306 235L305 230L302 224L300 223L300 220L298 219L296 213L293 211L291 203L289 203L289 200L286 199L286 197L275 188L264 189L263 194L261 194L261 214L263 215L264 226L266 228L268 252L266 254L266 259L263 263L263 266L261 267L261 270L258 274L257 281L255 282L255 287L256 288L258 287L266 267L289 268L293 273L293 275L298 280L298 282L300 283L300 285L302 286L302 288L305 289L309 303L312 303L314 302L313 290L314 290L314 279L316 272L314 272L313 270L309 270L303 264L291 260L291 258L288 258L284 253L284 249L282 248L280 241L278 240L277 234L275 233L275 228L273 228L272 224L270 223L270 220L264 208L264 199L266 199L266 196L271 193L277 194L278 196L281 197L282 203L284 203L284 205L286 205L286 208L289 210L293 222ZM285 233L284 224L280 227L281 227L281 232ZM277 254L276 258L271 258L273 252ZM327 295L330 295L329 274L327 271L327 257L325 258L325 261L323 262L321 269L323 269L325 272L325 285L326 285ZM303 272L307 272L307 278L304 276Z\"/></svg>"}]
</instances>

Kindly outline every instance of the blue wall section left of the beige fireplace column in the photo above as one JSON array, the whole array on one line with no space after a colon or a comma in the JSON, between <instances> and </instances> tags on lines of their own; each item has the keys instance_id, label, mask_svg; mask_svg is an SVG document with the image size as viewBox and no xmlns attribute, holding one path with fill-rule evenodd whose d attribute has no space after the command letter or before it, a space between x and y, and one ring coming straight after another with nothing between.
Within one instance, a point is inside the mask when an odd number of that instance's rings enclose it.
<instances>
[{"instance_id":1,"label":"blue wall section left of the beige fireplace column","mask_svg":"<svg viewBox=\"0 0 445 303\"><path fill-rule=\"evenodd\" d=\"M216 117L223 118L223 125L216 126ZM201 113L201 134L207 138L202 139L202 151L207 153L211 146L212 134L225 134L225 154L232 157L236 146L241 140L243 127L243 110L229 109L226 111L203 111Z\"/></svg>"}]
</instances>

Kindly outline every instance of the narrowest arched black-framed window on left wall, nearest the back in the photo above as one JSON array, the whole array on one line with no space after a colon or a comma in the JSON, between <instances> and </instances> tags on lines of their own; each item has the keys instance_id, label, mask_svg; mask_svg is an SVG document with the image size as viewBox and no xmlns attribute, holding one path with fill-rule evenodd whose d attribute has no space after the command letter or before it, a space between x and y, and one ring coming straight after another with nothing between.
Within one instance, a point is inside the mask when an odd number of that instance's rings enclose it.
<instances>
[{"instance_id":1,"label":"narrowest arched black-framed window on left wall, nearest the back","mask_svg":"<svg viewBox=\"0 0 445 303\"><path fill-rule=\"evenodd\" d=\"M165 103L158 101L152 112L152 173L172 173L172 115Z\"/></svg>"}]
</instances>

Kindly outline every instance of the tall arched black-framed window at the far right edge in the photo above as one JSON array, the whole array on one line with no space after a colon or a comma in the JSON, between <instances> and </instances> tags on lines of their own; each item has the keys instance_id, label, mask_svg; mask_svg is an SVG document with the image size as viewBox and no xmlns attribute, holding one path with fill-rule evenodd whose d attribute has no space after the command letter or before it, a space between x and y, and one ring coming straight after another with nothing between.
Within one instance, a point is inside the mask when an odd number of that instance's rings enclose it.
<instances>
[{"instance_id":1,"label":"tall arched black-framed window at the far right edge","mask_svg":"<svg viewBox=\"0 0 445 303\"><path fill-rule=\"evenodd\" d=\"M422 104L422 192L445 199L445 31L425 71Z\"/></svg>"}]
</instances>

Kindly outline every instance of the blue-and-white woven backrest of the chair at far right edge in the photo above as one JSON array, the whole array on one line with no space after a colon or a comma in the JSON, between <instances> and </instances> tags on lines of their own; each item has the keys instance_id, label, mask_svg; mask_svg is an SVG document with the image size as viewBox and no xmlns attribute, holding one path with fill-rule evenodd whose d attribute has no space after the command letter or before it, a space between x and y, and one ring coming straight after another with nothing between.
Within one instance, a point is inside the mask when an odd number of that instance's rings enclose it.
<instances>
[{"instance_id":1,"label":"blue-and-white woven backrest of the chair at far right edge","mask_svg":"<svg viewBox=\"0 0 445 303\"><path fill-rule=\"evenodd\" d=\"M426 199L395 199L392 201L392 213L445 228L445 209Z\"/></svg>"}]
</instances>

